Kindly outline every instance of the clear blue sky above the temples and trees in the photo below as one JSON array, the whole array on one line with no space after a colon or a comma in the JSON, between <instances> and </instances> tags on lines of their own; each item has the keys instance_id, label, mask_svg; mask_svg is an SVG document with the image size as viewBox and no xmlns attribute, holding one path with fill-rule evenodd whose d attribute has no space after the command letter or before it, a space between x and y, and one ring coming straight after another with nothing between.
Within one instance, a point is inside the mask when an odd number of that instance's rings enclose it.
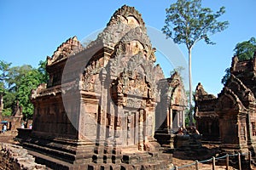
<instances>
[{"instance_id":1,"label":"clear blue sky above the temples and trees","mask_svg":"<svg viewBox=\"0 0 256 170\"><path fill-rule=\"evenodd\" d=\"M160 30L164 26L166 8L175 1L152 0L0 0L0 59L13 65L38 66L39 60L51 56L55 49L69 37L79 40L105 27L114 11L122 5L134 6L143 15L147 26ZM216 45L198 42L192 52L194 89L201 82L207 92L218 94L224 70L230 66L237 42L256 37L255 0L202 0L203 7L216 11L221 6L226 13L220 20L230 26L212 36ZM185 59L187 49L178 45ZM158 53L159 55L159 53ZM165 64L163 56L158 62ZM170 66L170 71L172 70ZM169 68L165 67L166 72Z\"/></svg>"}]
</instances>

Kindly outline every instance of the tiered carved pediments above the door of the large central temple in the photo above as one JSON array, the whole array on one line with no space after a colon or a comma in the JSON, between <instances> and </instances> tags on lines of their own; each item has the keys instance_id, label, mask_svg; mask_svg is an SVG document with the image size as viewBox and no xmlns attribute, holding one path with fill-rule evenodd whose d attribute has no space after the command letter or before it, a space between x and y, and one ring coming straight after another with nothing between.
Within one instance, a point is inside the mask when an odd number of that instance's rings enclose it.
<instances>
[{"instance_id":1,"label":"tiered carved pediments above the door of the large central temple","mask_svg":"<svg viewBox=\"0 0 256 170\"><path fill-rule=\"evenodd\" d=\"M119 8L104 31L87 48L93 48L99 42L109 49L108 56L103 50L102 56L90 59L82 77L84 89L95 91L96 79L105 68L106 80L114 87L113 94L136 94L154 99L156 82L164 78L164 74L159 65L154 65L156 49L152 48L141 14L131 7ZM100 58L103 62L98 62Z\"/></svg>"}]
</instances>

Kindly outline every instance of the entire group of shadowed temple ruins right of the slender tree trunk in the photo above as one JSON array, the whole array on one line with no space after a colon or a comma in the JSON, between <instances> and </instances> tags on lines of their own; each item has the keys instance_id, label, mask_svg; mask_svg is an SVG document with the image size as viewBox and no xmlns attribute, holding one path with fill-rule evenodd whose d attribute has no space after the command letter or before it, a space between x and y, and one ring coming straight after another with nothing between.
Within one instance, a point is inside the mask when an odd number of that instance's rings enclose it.
<instances>
[{"instance_id":1,"label":"entire group of shadowed temple ruins right of the slender tree trunk","mask_svg":"<svg viewBox=\"0 0 256 170\"><path fill-rule=\"evenodd\" d=\"M199 84L195 92L195 118L203 137L220 139L227 153L255 155L256 144L256 53L253 59L232 59L230 78L218 98ZM216 131L219 129L219 133ZM219 136L218 136L219 135ZM211 137L212 136L212 137ZM209 138L211 137L211 138Z\"/></svg>"}]
</instances>

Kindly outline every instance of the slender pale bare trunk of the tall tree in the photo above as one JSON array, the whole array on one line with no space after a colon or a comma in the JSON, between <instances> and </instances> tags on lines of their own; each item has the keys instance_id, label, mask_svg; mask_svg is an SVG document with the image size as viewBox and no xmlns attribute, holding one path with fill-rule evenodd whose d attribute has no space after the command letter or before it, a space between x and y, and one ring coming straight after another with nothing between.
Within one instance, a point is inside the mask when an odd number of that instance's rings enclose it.
<instances>
[{"instance_id":1,"label":"slender pale bare trunk of the tall tree","mask_svg":"<svg viewBox=\"0 0 256 170\"><path fill-rule=\"evenodd\" d=\"M191 51L192 48L189 48L189 125L193 123L193 106L192 106L192 70L191 70Z\"/></svg>"}]
</instances>

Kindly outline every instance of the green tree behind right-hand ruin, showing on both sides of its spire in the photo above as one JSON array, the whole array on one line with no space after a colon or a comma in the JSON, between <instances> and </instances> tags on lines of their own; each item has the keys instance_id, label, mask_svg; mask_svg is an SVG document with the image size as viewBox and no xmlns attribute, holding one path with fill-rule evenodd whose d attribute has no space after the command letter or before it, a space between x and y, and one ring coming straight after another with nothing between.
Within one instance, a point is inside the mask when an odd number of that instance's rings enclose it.
<instances>
[{"instance_id":1,"label":"green tree behind right-hand ruin, showing on both sides of its spire","mask_svg":"<svg viewBox=\"0 0 256 170\"><path fill-rule=\"evenodd\" d=\"M236 43L236 47L234 48L234 55L236 55L236 57L240 61L252 59L254 52L256 52L255 37L251 37L248 41ZM221 79L221 83L225 84L229 78L230 78L230 67L226 68L225 75Z\"/></svg>"}]
</instances>

